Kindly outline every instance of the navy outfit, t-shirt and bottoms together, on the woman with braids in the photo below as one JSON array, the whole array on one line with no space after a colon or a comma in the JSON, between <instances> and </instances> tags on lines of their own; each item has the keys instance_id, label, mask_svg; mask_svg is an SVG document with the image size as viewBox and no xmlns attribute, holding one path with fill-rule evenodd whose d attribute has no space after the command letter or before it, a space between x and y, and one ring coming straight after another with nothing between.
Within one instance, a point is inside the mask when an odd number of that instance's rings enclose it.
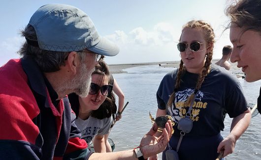
<instances>
[{"instance_id":1,"label":"navy outfit, t-shirt and bottoms together, on the woman with braids","mask_svg":"<svg viewBox=\"0 0 261 160\"><path fill-rule=\"evenodd\" d=\"M176 75L177 70L166 74L159 86L157 100L158 108L161 110L166 109L167 101L174 90ZM184 107L184 102L194 93L198 76L186 71L175 94L174 105L167 108L167 114L175 121L174 133L169 141L174 150L180 138L177 122L188 112L189 107ZM193 128L181 141L179 159L215 160L218 156L218 145L223 140L220 131L224 129L226 114L234 118L246 110L247 101L236 77L225 69L212 65L210 73L196 94L191 112ZM163 160L164 153L165 151Z\"/></svg>"}]
</instances>

